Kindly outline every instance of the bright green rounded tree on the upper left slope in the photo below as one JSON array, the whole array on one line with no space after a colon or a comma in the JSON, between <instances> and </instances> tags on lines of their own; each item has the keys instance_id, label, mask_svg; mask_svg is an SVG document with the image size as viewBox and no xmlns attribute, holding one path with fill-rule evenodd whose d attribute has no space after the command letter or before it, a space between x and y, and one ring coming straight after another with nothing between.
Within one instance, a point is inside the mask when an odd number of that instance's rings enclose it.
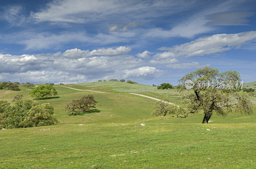
<instances>
[{"instance_id":1,"label":"bright green rounded tree on the upper left slope","mask_svg":"<svg viewBox=\"0 0 256 169\"><path fill-rule=\"evenodd\" d=\"M50 96L56 96L57 91L53 86L50 85L40 85L36 88L33 88L29 94L32 97L39 98L39 97L50 97Z\"/></svg>"}]
</instances>

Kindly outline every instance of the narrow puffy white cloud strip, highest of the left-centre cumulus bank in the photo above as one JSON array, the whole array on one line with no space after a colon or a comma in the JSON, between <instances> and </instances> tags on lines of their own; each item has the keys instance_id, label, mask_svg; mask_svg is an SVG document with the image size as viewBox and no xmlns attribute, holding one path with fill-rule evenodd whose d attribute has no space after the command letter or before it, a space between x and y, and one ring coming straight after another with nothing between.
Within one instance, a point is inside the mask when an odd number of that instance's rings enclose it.
<instances>
[{"instance_id":1,"label":"narrow puffy white cloud strip, highest of the left-centre cumulus bank","mask_svg":"<svg viewBox=\"0 0 256 169\"><path fill-rule=\"evenodd\" d=\"M70 49L66 50L62 53L63 56L66 58L84 58L84 57L92 57L92 56L115 56L115 55L122 55L125 53L129 53L132 50L130 47L120 46L116 49L112 48L102 48L97 50L80 50L80 49Z\"/></svg>"}]
</instances>

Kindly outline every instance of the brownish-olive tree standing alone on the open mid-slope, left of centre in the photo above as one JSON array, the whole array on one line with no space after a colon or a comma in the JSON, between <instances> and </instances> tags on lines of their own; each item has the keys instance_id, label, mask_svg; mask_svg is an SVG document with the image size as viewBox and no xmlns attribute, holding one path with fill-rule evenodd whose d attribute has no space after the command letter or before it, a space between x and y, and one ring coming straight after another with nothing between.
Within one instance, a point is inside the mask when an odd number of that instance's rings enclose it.
<instances>
[{"instance_id":1,"label":"brownish-olive tree standing alone on the open mid-slope, left of centre","mask_svg":"<svg viewBox=\"0 0 256 169\"><path fill-rule=\"evenodd\" d=\"M82 112L90 111L91 108L95 108L96 102L92 95L83 96L81 99L72 100L72 102L67 103L65 107L65 111L69 113L69 115L76 115Z\"/></svg>"}]
</instances>

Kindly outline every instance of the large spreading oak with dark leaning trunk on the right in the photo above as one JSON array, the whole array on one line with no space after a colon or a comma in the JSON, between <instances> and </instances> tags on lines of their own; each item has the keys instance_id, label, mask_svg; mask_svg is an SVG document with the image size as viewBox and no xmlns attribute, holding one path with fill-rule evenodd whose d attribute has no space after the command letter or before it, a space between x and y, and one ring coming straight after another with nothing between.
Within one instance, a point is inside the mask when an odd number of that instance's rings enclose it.
<instances>
[{"instance_id":1,"label":"large spreading oak with dark leaning trunk on the right","mask_svg":"<svg viewBox=\"0 0 256 169\"><path fill-rule=\"evenodd\" d=\"M179 107L169 105L168 113L171 117L186 118L189 114L204 111L203 123L208 123L214 112L222 116L228 113L251 114L252 102L248 93L239 91L240 81L240 74L236 71L219 72L208 66L199 68L179 80L180 92L188 87L193 92L182 98ZM192 85L188 86L188 83Z\"/></svg>"}]
</instances>

